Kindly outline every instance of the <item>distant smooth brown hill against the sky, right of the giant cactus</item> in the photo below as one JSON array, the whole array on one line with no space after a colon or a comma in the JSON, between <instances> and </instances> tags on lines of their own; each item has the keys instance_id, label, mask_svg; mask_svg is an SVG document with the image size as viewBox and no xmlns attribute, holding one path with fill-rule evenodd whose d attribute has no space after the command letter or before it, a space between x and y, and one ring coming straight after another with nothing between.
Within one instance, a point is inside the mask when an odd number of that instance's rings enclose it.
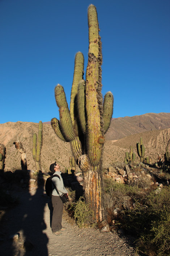
<instances>
[{"instance_id":1,"label":"distant smooth brown hill against the sky, right of the giant cactus","mask_svg":"<svg viewBox=\"0 0 170 256\"><path fill-rule=\"evenodd\" d=\"M148 113L133 117L113 118L106 139L121 139L131 134L170 128L170 113Z\"/></svg>"}]
</instances>

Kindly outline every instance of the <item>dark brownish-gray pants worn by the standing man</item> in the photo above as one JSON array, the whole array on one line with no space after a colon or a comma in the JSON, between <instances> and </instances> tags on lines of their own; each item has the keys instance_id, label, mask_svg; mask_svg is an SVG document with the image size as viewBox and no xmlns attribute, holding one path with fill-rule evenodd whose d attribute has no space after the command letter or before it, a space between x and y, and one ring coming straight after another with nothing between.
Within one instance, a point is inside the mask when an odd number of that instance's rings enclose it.
<instances>
[{"instance_id":1,"label":"dark brownish-gray pants worn by the standing man","mask_svg":"<svg viewBox=\"0 0 170 256\"><path fill-rule=\"evenodd\" d=\"M52 195L52 223L51 228L52 232L59 231L62 228L61 221L62 221L62 214L63 214L63 202L61 201L59 196Z\"/></svg>"}]
</instances>

